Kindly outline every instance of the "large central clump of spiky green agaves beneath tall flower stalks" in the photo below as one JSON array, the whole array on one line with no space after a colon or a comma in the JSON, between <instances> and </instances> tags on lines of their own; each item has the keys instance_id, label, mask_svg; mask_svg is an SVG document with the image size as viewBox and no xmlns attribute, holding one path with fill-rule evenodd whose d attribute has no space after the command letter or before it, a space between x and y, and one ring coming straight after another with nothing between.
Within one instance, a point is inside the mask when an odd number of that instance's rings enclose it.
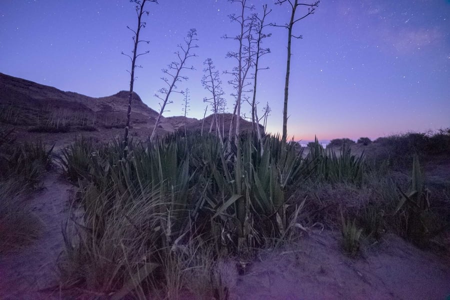
<instances>
[{"instance_id":1,"label":"large central clump of spiky green agaves beneath tall flower stalks","mask_svg":"<svg viewBox=\"0 0 450 300\"><path fill-rule=\"evenodd\" d=\"M147 276L154 269L153 264L149 267L136 260L126 245L120 256L107 242L125 241L128 236L124 234L134 234L139 240L136 249L151 250L151 263L160 265L173 258L168 249L180 249L200 236L204 242L212 242L214 255L232 251L240 257L264 242L262 237L285 236L295 227L293 218L304 204L289 215L285 192L307 166L294 143L282 143L274 136L266 136L263 142L261 151L257 138L242 135L237 146L227 151L227 145L216 136L176 133L151 142L130 141L123 158L120 140L96 149L88 143L74 145L79 146L82 159L67 159L67 168L73 161L85 167L82 173L75 168L76 176L85 178L80 184L85 212L78 245L83 249L67 245L67 252L78 255L82 250L91 255L92 246L105 245L109 249L101 249L102 255L109 253L115 262L133 259L131 268L121 264L132 281L120 279L119 284L112 284L118 280L114 277L106 282L107 288L123 285L117 293L122 295L140 286L133 274ZM73 158L71 153L67 152L67 158ZM111 222L120 223L121 229ZM145 267L150 273L142 270Z\"/></svg>"}]
</instances>

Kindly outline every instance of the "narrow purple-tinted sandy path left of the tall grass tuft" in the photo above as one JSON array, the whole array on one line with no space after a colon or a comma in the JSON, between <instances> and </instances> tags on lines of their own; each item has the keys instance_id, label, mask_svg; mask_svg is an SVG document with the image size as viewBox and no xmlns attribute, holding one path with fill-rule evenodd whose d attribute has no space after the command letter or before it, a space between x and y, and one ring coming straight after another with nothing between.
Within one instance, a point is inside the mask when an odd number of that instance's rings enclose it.
<instances>
[{"instance_id":1,"label":"narrow purple-tinted sandy path left of the tall grass tuft","mask_svg":"<svg viewBox=\"0 0 450 300\"><path fill-rule=\"evenodd\" d=\"M74 186L56 171L42 178L43 188L27 202L40 220L41 231L24 249L0 257L1 299L48 299L38 290L58 282L56 260L63 247L62 222L68 213L68 199Z\"/></svg>"}]
</instances>

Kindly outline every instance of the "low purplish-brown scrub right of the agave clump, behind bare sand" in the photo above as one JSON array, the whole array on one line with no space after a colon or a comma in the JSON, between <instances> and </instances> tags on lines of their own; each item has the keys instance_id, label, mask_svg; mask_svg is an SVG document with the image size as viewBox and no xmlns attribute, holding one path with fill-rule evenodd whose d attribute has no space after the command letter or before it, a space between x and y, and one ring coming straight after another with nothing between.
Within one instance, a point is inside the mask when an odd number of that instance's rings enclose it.
<instances>
[{"instance_id":1,"label":"low purplish-brown scrub right of the agave clump, behind bare sand","mask_svg":"<svg viewBox=\"0 0 450 300\"><path fill-rule=\"evenodd\" d=\"M393 211L398 203L398 188L406 188L407 180L407 175L385 167L364 168L361 179L354 183L317 180L313 173L291 198L307 199L301 214L305 226L322 223L331 229L340 228L342 211L363 229L364 236L379 240L388 228L398 227L398 216Z\"/></svg>"}]
</instances>

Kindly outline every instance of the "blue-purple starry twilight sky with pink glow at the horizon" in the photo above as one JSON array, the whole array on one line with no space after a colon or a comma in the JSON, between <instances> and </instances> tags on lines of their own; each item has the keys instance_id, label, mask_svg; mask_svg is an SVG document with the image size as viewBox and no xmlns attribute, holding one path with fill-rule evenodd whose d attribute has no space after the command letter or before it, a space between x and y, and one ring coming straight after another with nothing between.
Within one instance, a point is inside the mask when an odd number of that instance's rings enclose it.
<instances>
[{"instance_id":1,"label":"blue-purple starry twilight sky with pink glow at the horizon","mask_svg":"<svg viewBox=\"0 0 450 300\"><path fill-rule=\"evenodd\" d=\"M274 0L248 0L268 20L284 24L288 5ZM304 1L311 2L311 1ZM153 94L164 82L161 68L174 60L176 45L196 28L198 57L188 61L188 116L201 118L209 96L201 86L203 60L210 57L220 71L231 70L225 58L236 50L238 27L227 17L238 5L226 0L159 0L141 31L134 84L142 100L158 110ZM129 88L134 4L128 0L1 0L0 72L62 90L100 97ZM262 56L257 100L272 109L267 131L281 132L287 30L267 28L271 53ZM295 139L375 138L391 133L426 131L450 126L449 0L322 0L315 14L296 23L292 43L288 134ZM221 74L229 109L230 77ZM174 93L165 116L181 115L183 96ZM250 110L243 104L242 112ZM262 115L262 112L259 112Z\"/></svg>"}]
</instances>

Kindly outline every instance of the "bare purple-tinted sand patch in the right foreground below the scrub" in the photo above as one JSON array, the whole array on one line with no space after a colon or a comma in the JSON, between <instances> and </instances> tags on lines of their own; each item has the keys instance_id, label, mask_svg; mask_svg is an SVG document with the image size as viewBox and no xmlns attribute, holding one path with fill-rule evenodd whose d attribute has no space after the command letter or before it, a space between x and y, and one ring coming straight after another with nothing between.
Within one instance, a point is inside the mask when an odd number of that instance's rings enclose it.
<instances>
[{"instance_id":1,"label":"bare purple-tinted sand patch in the right foreground below the scrub","mask_svg":"<svg viewBox=\"0 0 450 300\"><path fill-rule=\"evenodd\" d=\"M450 258L417 249L393 234L352 259L339 234L304 237L263 254L237 278L234 299L445 299Z\"/></svg>"}]
</instances>

